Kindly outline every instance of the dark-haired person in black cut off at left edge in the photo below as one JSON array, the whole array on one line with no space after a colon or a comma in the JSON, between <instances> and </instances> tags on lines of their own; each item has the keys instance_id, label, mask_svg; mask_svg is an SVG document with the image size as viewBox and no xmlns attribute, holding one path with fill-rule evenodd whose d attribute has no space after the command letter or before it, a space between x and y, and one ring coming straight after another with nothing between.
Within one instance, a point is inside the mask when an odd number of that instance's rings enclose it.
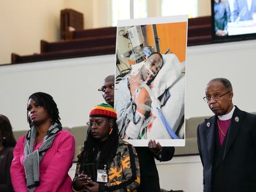
<instances>
[{"instance_id":1,"label":"dark-haired person in black cut off at left edge","mask_svg":"<svg viewBox=\"0 0 256 192\"><path fill-rule=\"evenodd\" d=\"M11 192L12 188L10 167L12 152L16 144L9 119L0 114L0 191Z\"/></svg>"}]
</instances>

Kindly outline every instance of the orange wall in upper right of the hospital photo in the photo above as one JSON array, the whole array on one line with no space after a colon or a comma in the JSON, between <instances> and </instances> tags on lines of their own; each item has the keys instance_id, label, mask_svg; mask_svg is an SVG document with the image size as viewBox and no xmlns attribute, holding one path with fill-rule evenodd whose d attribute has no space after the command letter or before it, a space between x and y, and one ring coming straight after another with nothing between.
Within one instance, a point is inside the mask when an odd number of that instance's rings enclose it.
<instances>
[{"instance_id":1,"label":"orange wall in upper right of the hospital photo","mask_svg":"<svg viewBox=\"0 0 256 192\"><path fill-rule=\"evenodd\" d=\"M160 52L164 54L167 49L177 56L180 62L186 60L187 22L156 24L160 38Z\"/></svg>"}]
</instances>

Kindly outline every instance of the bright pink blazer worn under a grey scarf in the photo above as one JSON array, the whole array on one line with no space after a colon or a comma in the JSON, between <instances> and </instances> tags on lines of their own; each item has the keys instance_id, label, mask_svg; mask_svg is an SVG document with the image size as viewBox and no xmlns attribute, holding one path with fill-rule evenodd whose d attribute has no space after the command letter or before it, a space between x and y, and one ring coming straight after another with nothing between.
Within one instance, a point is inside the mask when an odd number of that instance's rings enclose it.
<instances>
[{"instance_id":1,"label":"bright pink blazer worn under a grey scarf","mask_svg":"<svg viewBox=\"0 0 256 192\"><path fill-rule=\"evenodd\" d=\"M15 191L28 191L25 182L24 161L25 136L17 141L14 148L14 159L11 165L11 180ZM40 148L43 142L37 144L34 151ZM49 148L40 162L40 185L35 192L66 192L72 191L71 178L67 174L72 166L75 151L74 136L69 131L59 131L53 145Z\"/></svg>"}]
</instances>

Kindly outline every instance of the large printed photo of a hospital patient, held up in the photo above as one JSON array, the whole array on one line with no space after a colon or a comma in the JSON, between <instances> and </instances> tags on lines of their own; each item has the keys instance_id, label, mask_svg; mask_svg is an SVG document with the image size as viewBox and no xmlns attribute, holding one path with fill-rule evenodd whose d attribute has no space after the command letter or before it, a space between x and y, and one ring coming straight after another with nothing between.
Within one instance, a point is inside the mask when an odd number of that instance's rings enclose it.
<instances>
[{"instance_id":1,"label":"large printed photo of a hospital patient, held up","mask_svg":"<svg viewBox=\"0 0 256 192\"><path fill-rule=\"evenodd\" d=\"M121 138L184 146L187 16L117 23L114 107Z\"/></svg>"}]
</instances>

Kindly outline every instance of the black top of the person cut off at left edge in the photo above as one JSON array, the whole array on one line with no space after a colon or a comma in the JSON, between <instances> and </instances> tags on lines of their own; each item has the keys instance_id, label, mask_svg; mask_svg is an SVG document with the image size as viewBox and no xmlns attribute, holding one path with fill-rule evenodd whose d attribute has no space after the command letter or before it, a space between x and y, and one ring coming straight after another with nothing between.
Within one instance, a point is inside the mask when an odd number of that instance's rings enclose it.
<instances>
[{"instance_id":1,"label":"black top of the person cut off at left edge","mask_svg":"<svg viewBox=\"0 0 256 192\"><path fill-rule=\"evenodd\" d=\"M9 192L12 189L10 167L14 148L4 148L0 151L0 191Z\"/></svg>"}]
</instances>

